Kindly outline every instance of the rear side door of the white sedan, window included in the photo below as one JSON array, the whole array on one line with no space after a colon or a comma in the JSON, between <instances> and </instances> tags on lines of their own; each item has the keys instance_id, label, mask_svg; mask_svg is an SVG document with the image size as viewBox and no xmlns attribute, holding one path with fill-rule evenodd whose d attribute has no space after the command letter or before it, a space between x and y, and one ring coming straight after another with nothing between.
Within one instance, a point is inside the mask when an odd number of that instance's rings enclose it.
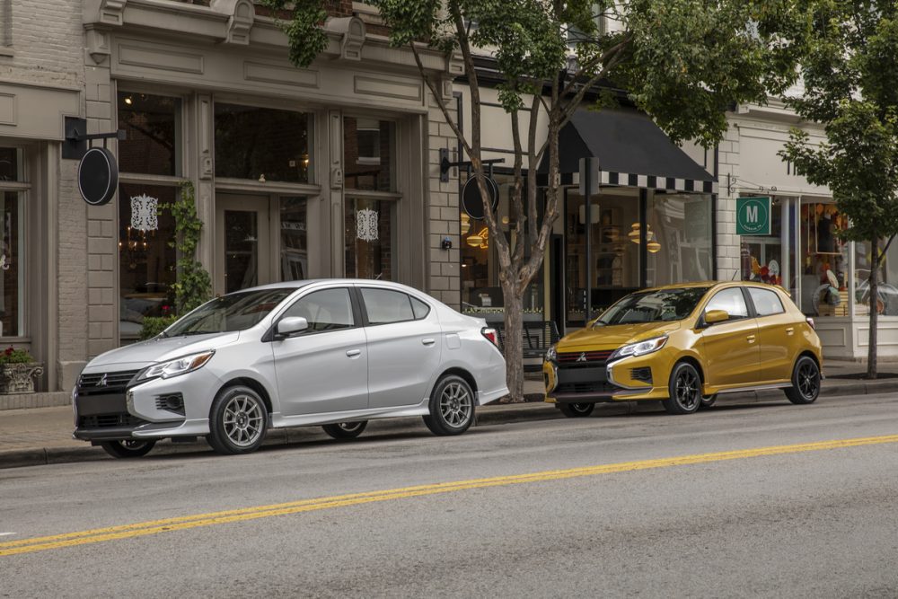
<instances>
[{"instance_id":1,"label":"rear side door of the white sedan, window included","mask_svg":"<svg viewBox=\"0 0 898 599\"><path fill-rule=\"evenodd\" d=\"M436 310L395 289L359 286L368 341L368 404L417 405L440 365Z\"/></svg>"}]
</instances>

